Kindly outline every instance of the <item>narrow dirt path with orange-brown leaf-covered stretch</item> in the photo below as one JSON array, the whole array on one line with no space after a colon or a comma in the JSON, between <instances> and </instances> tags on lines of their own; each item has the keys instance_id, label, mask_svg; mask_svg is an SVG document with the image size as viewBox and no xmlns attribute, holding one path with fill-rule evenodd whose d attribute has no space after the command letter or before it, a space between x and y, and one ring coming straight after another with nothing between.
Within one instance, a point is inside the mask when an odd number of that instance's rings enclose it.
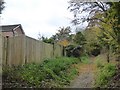
<instances>
[{"instance_id":1,"label":"narrow dirt path with orange-brown leaf-covered stretch","mask_svg":"<svg viewBox=\"0 0 120 90\"><path fill-rule=\"evenodd\" d=\"M91 88L94 87L94 72L96 66L93 64L93 59L90 58L89 64L79 64L79 76L76 77L68 88Z\"/></svg>"}]
</instances>

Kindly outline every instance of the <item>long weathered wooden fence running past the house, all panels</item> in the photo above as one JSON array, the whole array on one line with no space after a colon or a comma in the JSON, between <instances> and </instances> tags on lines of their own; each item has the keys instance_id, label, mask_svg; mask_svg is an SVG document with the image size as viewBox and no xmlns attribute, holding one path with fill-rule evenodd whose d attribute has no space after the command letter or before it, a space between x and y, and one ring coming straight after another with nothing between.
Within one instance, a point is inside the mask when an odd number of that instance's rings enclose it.
<instances>
[{"instance_id":1,"label":"long weathered wooden fence running past the house, all panels","mask_svg":"<svg viewBox=\"0 0 120 90\"><path fill-rule=\"evenodd\" d=\"M3 65L41 63L45 58L61 57L62 52L63 47L58 44L47 44L28 36L2 37Z\"/></svg>"}]
</instances>

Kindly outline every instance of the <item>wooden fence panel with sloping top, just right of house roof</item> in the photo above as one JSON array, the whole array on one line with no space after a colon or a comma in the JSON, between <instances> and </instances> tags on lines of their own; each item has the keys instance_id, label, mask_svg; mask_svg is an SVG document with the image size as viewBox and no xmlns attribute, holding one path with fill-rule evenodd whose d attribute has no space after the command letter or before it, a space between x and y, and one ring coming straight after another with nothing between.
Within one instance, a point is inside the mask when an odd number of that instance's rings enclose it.
<instances>
[{"instance_id":1,"label":"wooden fence panel with sloping top, just right of house roof","mask_svg":"<svg viewBox=\"0 0 120 90\"><path fill-rule=\"evenodd\" d=\"M26 62L41 62L42 59L42 43L30 37L26 37Z\"/></svg>"}]
</instances>

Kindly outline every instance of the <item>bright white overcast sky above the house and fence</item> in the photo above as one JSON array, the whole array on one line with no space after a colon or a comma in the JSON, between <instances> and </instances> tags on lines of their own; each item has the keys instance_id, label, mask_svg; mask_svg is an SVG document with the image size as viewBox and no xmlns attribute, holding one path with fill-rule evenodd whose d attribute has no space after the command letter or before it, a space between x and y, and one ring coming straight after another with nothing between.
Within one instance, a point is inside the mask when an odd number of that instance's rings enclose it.
<instances>
[{"instance_id":1,"label":"bright white overcast sky above the house and fence","mask_svg":"<svg viewBox=\"0 0 120 90\"><path fill-rule=\"evenodd\" d=\"M70 26L69 0L5 0L2 25L21 24L26 35L50 37L59 27Z\"/></svg>"}]
</instances>

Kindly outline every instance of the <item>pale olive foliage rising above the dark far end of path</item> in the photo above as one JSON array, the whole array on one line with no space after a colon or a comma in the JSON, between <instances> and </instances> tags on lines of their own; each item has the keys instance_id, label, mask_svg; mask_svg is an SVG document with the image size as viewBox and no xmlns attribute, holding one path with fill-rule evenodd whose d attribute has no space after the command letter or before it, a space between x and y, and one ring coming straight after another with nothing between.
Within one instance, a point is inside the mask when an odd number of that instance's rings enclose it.
<instances>
[{"instance_id":1,"label":"pale olive foliage rising above the dark far end of path","mask_svg":"<svg viewBox=\"0 0 120 90\"><path fill-rule=\"evenodd\" d=\"M100 33L100 29L96 26L87 28L84 31L84 36L86 39L86 44L84 48L88 54L98 55L100 53L101 44L99 42L98 35Z\"/></svg>"}]
</instances>

